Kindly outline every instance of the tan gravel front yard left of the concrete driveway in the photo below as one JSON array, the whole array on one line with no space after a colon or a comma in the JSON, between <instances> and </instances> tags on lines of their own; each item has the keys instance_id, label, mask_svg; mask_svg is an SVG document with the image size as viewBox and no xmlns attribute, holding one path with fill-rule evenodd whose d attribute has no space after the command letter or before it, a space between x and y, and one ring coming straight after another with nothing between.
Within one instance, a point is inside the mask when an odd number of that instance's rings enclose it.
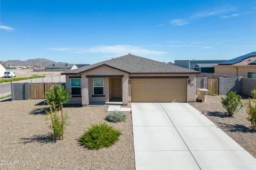
<instances>
[{"instance_id":1,"label":"tan gravel front yard left of the concrete driveway","mask_svg":"<svg viewBox=\"0 0 256 170\"><path fill-rule=\"evenodd\" d=\"M78 143L91 124L106 122L107 107L66 107L70 125L64 140L53 142L42 100L0 102L0 169L134 169L131 114L122 123L108 123L123 135L110 148L89 150ZM11 161L11 165L2 165ZM13 161L21 164L14 165ZM23 162L22 162L23 161Z\"/></svg>"}]
</instances>

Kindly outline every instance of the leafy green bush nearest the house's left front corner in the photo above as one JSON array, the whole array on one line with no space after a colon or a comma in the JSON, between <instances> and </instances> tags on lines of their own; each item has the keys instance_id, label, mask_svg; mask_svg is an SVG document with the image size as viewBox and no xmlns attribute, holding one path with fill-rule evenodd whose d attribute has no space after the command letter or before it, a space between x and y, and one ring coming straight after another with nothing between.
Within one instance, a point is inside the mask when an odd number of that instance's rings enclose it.
<instances>
[{"instance_id":1,"label":"leafy green bush nearest the house's left front corner","mask_svg":"<svg viewBox=\"0 0 256 170\"><path fill-rule=\"evenodd\" d=\"M51 92L45 93L45 104L48 104L53 111L60 111L62 104L66 104L71 95L69 92L61 85L55 84L51 88Z\"/></svg>"}]
</instances>

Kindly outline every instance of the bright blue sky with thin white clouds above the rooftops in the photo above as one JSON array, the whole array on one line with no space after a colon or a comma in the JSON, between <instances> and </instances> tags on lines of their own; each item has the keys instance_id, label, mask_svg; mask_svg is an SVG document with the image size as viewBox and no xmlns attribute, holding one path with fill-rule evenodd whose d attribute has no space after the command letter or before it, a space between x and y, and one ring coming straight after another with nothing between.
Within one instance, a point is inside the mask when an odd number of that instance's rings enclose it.
<instances>
[{"instance_id":1,"label":"bright blue sky with thin white clouds above the rooftops","mask_svg":"<svg viewBox=\"0 0 256 170\"><path fill-rule=\"evenodd\" d=\"M158 61L256 51L256 1L1 0L1 59L95 63L132 53Z\"/></svg>"}]
</instances>

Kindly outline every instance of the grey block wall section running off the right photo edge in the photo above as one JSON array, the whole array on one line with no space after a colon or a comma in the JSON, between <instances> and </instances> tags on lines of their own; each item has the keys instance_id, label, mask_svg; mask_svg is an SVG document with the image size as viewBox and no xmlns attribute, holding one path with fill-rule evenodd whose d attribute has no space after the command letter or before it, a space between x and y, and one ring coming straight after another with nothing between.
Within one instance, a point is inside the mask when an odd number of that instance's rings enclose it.
<instances>
[{"instance_id":1,"label":"grey block wall section running off the right photo edge","mask_svg":"<svg viewBox=\"0 0 256 170\"><path fill-rule=\"evenodd\" d=\"M256 90L256 79L255 78L242 78L242 94L251 96L251 91Z\"/></svg>"}]
</instances>

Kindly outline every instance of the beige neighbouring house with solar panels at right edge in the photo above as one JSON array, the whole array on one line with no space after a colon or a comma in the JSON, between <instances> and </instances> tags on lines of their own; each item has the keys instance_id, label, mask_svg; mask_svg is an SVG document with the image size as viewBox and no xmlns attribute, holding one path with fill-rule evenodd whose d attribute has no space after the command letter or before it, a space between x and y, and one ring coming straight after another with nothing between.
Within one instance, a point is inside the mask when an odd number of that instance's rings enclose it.
<instances>
[{"instance_id":1,"label":"beige neighbouring house with solar panels at right edge","mask_svg":"<svg viewBox=\"0 0 256 170\"><path fill-rule=\"evenodd\" d=\"M238 56L214 66L215 74L256 78L256 52Z\"/></svg>"}]
</instances>

